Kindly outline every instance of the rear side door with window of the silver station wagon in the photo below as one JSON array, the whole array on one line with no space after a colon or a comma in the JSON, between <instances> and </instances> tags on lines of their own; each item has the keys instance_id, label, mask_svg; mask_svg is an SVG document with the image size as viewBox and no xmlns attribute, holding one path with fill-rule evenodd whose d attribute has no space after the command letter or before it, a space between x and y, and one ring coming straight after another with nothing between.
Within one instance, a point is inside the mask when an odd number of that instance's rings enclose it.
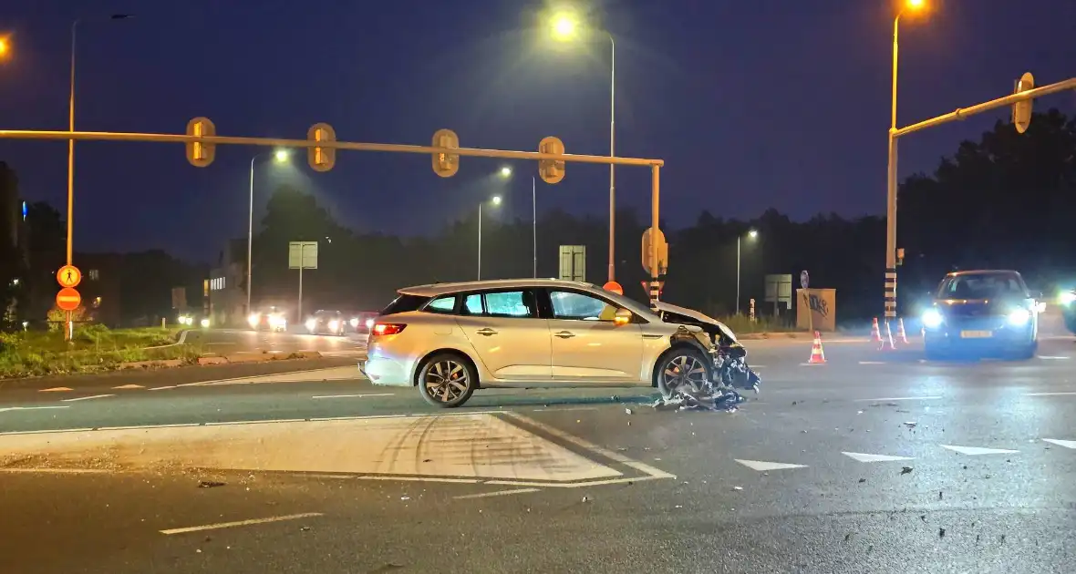
<instances>
[{"instance_id":1,"label":"rear side door with window of the silver station wagon","mask_svg":"<svg viewBox=\"0 0 1076 574\"><path fill-rule=\"evenodd\" d=\"M464 293L456 318L482 365L495 378L549 381L549 321L538 316L535 291L499 289Z\"/></svg>"}]
</instances>

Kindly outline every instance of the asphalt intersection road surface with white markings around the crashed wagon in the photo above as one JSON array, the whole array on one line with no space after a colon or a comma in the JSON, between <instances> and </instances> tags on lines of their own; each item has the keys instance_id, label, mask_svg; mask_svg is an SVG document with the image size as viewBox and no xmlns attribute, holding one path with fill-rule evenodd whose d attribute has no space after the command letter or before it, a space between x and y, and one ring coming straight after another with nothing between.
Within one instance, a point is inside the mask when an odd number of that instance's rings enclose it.
<instances>
[{"instance_id":1,"label":"asphalt intersection road surface with white markings around the crashed wagon","mask_svg":"<svg viewBox=\"0 0 1076 574\"><path fill-rule=\"evenodd\" d=\"M0 388L0 572L1076 570L1073 338L749 348L735 413L648 389L435 411L346 358Z\"/></svg>"}]
</instances>

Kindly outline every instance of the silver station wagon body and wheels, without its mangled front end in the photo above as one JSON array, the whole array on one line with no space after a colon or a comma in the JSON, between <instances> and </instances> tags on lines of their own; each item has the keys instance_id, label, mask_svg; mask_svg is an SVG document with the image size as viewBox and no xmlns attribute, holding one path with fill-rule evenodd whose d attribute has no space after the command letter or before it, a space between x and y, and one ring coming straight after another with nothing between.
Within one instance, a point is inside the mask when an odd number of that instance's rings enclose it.
<instances>
[{"instance_id":1,"label":"silver station wagon body and wheels, without its mangled front end","mask_svg":"<svg viewBox=\"0 0 1076 574\"><path fill-rule=\"evenodd\" d=\"M587 283L502 279L400 289L359 368L374 385L419 388L459 406L495 387L696 387L717 351L697 326Z\"/></svg>"}]
</instances>

